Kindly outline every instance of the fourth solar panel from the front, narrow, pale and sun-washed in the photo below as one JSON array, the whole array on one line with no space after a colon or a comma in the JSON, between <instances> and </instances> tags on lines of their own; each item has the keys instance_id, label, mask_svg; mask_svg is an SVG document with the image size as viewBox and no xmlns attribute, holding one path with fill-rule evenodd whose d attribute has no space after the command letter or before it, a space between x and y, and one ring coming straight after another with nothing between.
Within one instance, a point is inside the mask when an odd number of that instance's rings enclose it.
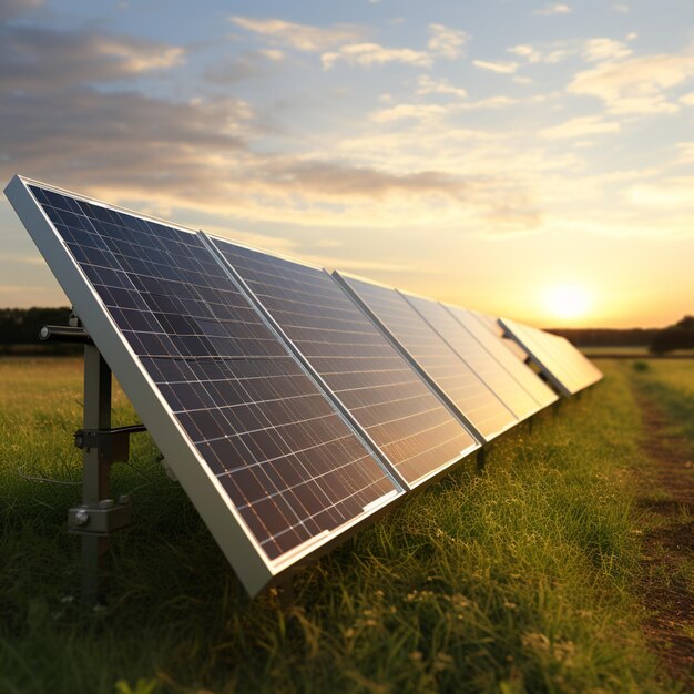
<instances>
[{"instance_id":1,"label":"fourth solar panel from the front, narrow, pale and sun-washed","mask_svg":"<svg viewBox=\"0 0 694 694\"><path fill-rule=\"evenodd\" d=\"M489 351L441 304L404 292L400 294L518 419L527 419L541 409L539 402L500 368Z\"/></svg>"}]
</instances>

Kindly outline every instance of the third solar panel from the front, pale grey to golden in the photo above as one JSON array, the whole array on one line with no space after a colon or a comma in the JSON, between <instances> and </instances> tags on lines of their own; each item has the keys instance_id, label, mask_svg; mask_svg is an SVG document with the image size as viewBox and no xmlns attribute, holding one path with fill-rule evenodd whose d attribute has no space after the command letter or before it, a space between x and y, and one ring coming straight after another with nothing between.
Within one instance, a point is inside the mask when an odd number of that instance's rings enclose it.
<instances>
[{"instance_id":1,"label":"third solar panel from the front, pale grey to golden","mask_svg":"<svg viewBox=\"0 0 694 694\"><path fill-rule=\"evenodd\" d=\"M484 440L518 423L513 412L396 289L337 271L334 275Z\"/></svg>"}]
</instances>

